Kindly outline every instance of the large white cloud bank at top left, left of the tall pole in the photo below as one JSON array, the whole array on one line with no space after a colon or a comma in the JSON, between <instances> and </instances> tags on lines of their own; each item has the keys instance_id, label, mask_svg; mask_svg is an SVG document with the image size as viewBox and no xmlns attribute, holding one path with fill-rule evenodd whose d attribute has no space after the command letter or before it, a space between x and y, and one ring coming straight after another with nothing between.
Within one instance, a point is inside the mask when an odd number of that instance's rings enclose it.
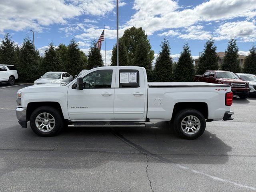
<instances>
[{"instance_id":1,"label":"large white cloud bank at top left, left of the tall pole","mask_svg":"<svg viewBox=\"0 0 256 192\"><path fill-rule=\"evenodd\" d=\"M0 33L25 29L42 31L45 26L66 24L68 19L82 14L102 16L114 7L115 0L2 0Z\"/></svg>"}]
</instances>

